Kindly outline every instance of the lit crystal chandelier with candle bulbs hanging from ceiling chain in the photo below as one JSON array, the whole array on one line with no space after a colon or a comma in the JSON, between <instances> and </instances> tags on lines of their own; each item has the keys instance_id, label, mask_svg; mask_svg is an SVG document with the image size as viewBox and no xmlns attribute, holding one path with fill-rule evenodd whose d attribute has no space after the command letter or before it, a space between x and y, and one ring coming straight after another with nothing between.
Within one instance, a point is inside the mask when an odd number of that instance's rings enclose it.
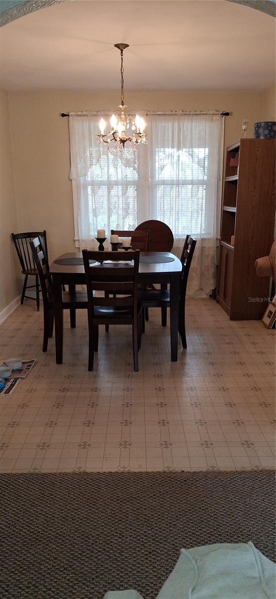
<instances>
[{"instance_id":1,"label":"lit crystal chandelier with candle bulbs hanging from ceiling chain","mask_svg":"<svg viewBox=\"0 0 276 599\"><path fill-rule=\"evenodd\" d=\"M144 134L145 121L138 114L136 116L132 116L131 114L127 114L125 112L127 105L124 102L124 90L123 90L123 51L129 47L129 44L114 44L115 48L120 50L121 54L121 104L118 108L121 109L120 116L118 114L113 114L110 119L111 130L108 133L105 133L105 127L107 123L105 123L104 119L101 119L99 122L99 129L101 133L97 135L98 143L103 141L105 144L111 143L114 141L114 148L117 149L119 147L120 150L125 148L125 144L127 141L129 143L133 143L134 147L137 147L137 144L146 144L147 136ZM131 128L132 133L128 133L128 129Z\"/></svg>"}]
</instances>

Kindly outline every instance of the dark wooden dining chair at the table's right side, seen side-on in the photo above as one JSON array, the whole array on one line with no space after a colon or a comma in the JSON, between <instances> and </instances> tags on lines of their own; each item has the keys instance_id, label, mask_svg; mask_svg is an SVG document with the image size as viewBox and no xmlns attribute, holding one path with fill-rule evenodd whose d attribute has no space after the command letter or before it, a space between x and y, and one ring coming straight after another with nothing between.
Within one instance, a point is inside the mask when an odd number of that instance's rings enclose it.
<instances>
[{"instance_id":1,"label":"dark wooden dining chair at the table's right side, seen side-on","mask_svg":"<svg viewBox=\"0 0 276 599\"><path fill-rule=\"evenodd\" d=\"M182 347L187 347L186 330L185 330L185 301L187 281L189 277L190 265L195 251L196 240L190 235L186 235L182 254L181 254L181 280L180 280L180 295L179 295L179 319L178 331L181 335ZM166 326L166 312L169 308L169 291L168 289L147 289L143 291L139 289L138 300L142 304L142 331L145 330L145 308L161 308L162 311L162 326Z\"/></svg>"}]
</instances>

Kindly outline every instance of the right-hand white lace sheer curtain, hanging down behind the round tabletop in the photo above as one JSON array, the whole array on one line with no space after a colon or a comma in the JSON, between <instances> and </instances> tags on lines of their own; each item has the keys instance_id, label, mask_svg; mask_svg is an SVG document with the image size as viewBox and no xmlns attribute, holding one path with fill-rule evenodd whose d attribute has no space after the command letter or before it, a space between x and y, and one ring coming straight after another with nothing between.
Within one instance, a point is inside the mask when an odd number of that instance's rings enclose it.
<instances>
[{"instance_id":1,"label":"right-hand white lace sheer curtain, hanging down behind the round tabletop","mask_svg":"<svg viewBox=\"0 0 276 599\"><path fill-rule=\"evenodd\" d=\"M219 114L151 116L148 123L151 217L172 229L176 255L188 233L197 240L189 294L216 286L223 133Z\"/></svg>"}]
</instances>

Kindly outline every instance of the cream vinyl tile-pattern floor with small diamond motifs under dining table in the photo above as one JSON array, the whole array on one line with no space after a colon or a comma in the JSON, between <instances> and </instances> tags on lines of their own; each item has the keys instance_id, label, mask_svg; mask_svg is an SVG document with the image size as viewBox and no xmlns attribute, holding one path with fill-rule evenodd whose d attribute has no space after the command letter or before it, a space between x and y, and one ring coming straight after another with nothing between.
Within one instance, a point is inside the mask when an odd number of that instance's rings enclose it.
<instances>
[{"instance_id":1,"label":"cream vinyl tile-pattern floor with small diamond motifs under dining table","mask_svg":"<svg viewBox=\"0 0 276 599\"><path fill-rule=\"evenodd\" d=\"M101 327L87 371L86 312L65 315L62 365L42 353L43 312L26 300L0 327L0 361L37 358L0 396L0 472L274 468L275 331L230 322L213 299L187 301L187 343L169 359L169 328L150 311L132 370L131 329Z\"/></svg>"}]
</instances>

